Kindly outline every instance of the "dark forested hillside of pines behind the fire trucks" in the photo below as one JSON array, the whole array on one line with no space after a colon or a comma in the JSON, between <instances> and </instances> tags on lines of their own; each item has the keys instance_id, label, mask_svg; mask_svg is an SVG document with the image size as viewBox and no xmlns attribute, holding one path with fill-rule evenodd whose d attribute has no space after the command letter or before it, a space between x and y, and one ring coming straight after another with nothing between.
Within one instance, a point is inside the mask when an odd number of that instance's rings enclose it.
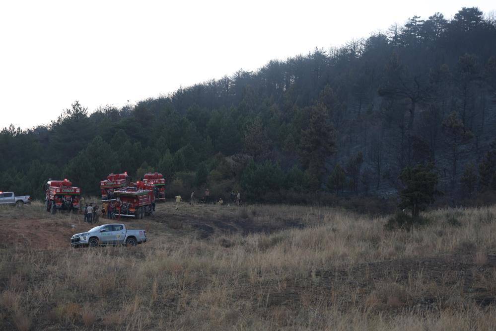
<instances>
[{"instance_id":1,"label":"dark forested hillside of pines behind the fire trucks","mask_svg":"<svg viewBox=\"0 0 496 331\"><path fill-rule=\"evenodd\" d=\"M169 194L384 196L401 169L432 162L445 199L458 201L496 189L495 101L495 18L414 16L132 107L89 114L75 102L48 126L5 128L0 190L39 197L47 178L66 177L97 194L110 172L155 170Z\"/></svg>"}]
</instances>

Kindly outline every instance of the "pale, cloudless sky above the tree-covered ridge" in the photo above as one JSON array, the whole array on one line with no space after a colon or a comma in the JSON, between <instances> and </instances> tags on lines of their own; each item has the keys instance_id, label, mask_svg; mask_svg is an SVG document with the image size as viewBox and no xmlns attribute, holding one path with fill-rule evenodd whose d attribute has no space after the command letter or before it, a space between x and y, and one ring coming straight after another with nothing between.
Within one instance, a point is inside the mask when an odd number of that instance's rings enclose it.
<instances>
[{"instance_id":1,"label":"pale, cloudless sky above the tree-covered ridge","mask_svg":"<svg viewBox=\"0 0 496 331\"><path fill-rule=\"evenodd\" d=\"M1 1L0 128L174 92L494 0Z\"/></svg>"}]
</instances>

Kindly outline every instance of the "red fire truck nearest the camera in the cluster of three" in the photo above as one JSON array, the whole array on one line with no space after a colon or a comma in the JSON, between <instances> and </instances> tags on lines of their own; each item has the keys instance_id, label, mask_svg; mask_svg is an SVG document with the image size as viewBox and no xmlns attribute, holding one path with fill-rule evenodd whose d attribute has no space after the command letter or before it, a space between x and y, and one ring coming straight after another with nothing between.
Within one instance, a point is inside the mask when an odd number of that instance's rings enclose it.
<instances>
[{"instance_id":1,"label":"red fire truck nearest the camera in the cluster of three","mask_svg":"<svg viewBox=\"0 0 496 331\"><path fill-rule=\"evenodd\" d=\"M138 181L135 186L114 190L113 202L116 216L134 217L136 219L148 216L155 210L155 194L152 185Z\"/></svg>"}]
</instances>

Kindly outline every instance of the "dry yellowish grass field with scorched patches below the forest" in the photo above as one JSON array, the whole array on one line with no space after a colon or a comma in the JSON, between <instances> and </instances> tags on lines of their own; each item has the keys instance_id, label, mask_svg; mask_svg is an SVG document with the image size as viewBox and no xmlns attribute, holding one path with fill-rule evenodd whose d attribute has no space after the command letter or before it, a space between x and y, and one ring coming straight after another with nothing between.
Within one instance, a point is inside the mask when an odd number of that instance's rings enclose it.
<instances>
[{"instance_id":1,"label":"dry yellowish grass field with scorched patches below the forest","mask_svg":"<svg viewBox=\"0 0 496 331\"><path fill-rule=\"evenodd\" d=\"M162 203L122 222L147 243L72 249L82 216L2 207L0 329L494 329L496 207L425 216Z\"/></svg>"}]
</instances>

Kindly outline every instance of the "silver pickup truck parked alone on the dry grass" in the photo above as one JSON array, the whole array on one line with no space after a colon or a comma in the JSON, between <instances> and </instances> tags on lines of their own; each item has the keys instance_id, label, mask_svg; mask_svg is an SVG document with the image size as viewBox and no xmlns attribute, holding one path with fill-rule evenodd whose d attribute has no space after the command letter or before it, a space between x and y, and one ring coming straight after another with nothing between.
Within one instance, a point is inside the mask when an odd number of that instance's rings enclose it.
<instances>
[{"instance_id":1,"label":"silver pickup truck parked alone on the dry grass","mask_svg":"<svg viewBox=\"0 0 496 331\"><path fill-rule=\"evenodd\" d=\"M72 247L136 246L146 242L146 231L127 230L124 224L104 224L71 237Z\"/></svg>"}]
</instances>

